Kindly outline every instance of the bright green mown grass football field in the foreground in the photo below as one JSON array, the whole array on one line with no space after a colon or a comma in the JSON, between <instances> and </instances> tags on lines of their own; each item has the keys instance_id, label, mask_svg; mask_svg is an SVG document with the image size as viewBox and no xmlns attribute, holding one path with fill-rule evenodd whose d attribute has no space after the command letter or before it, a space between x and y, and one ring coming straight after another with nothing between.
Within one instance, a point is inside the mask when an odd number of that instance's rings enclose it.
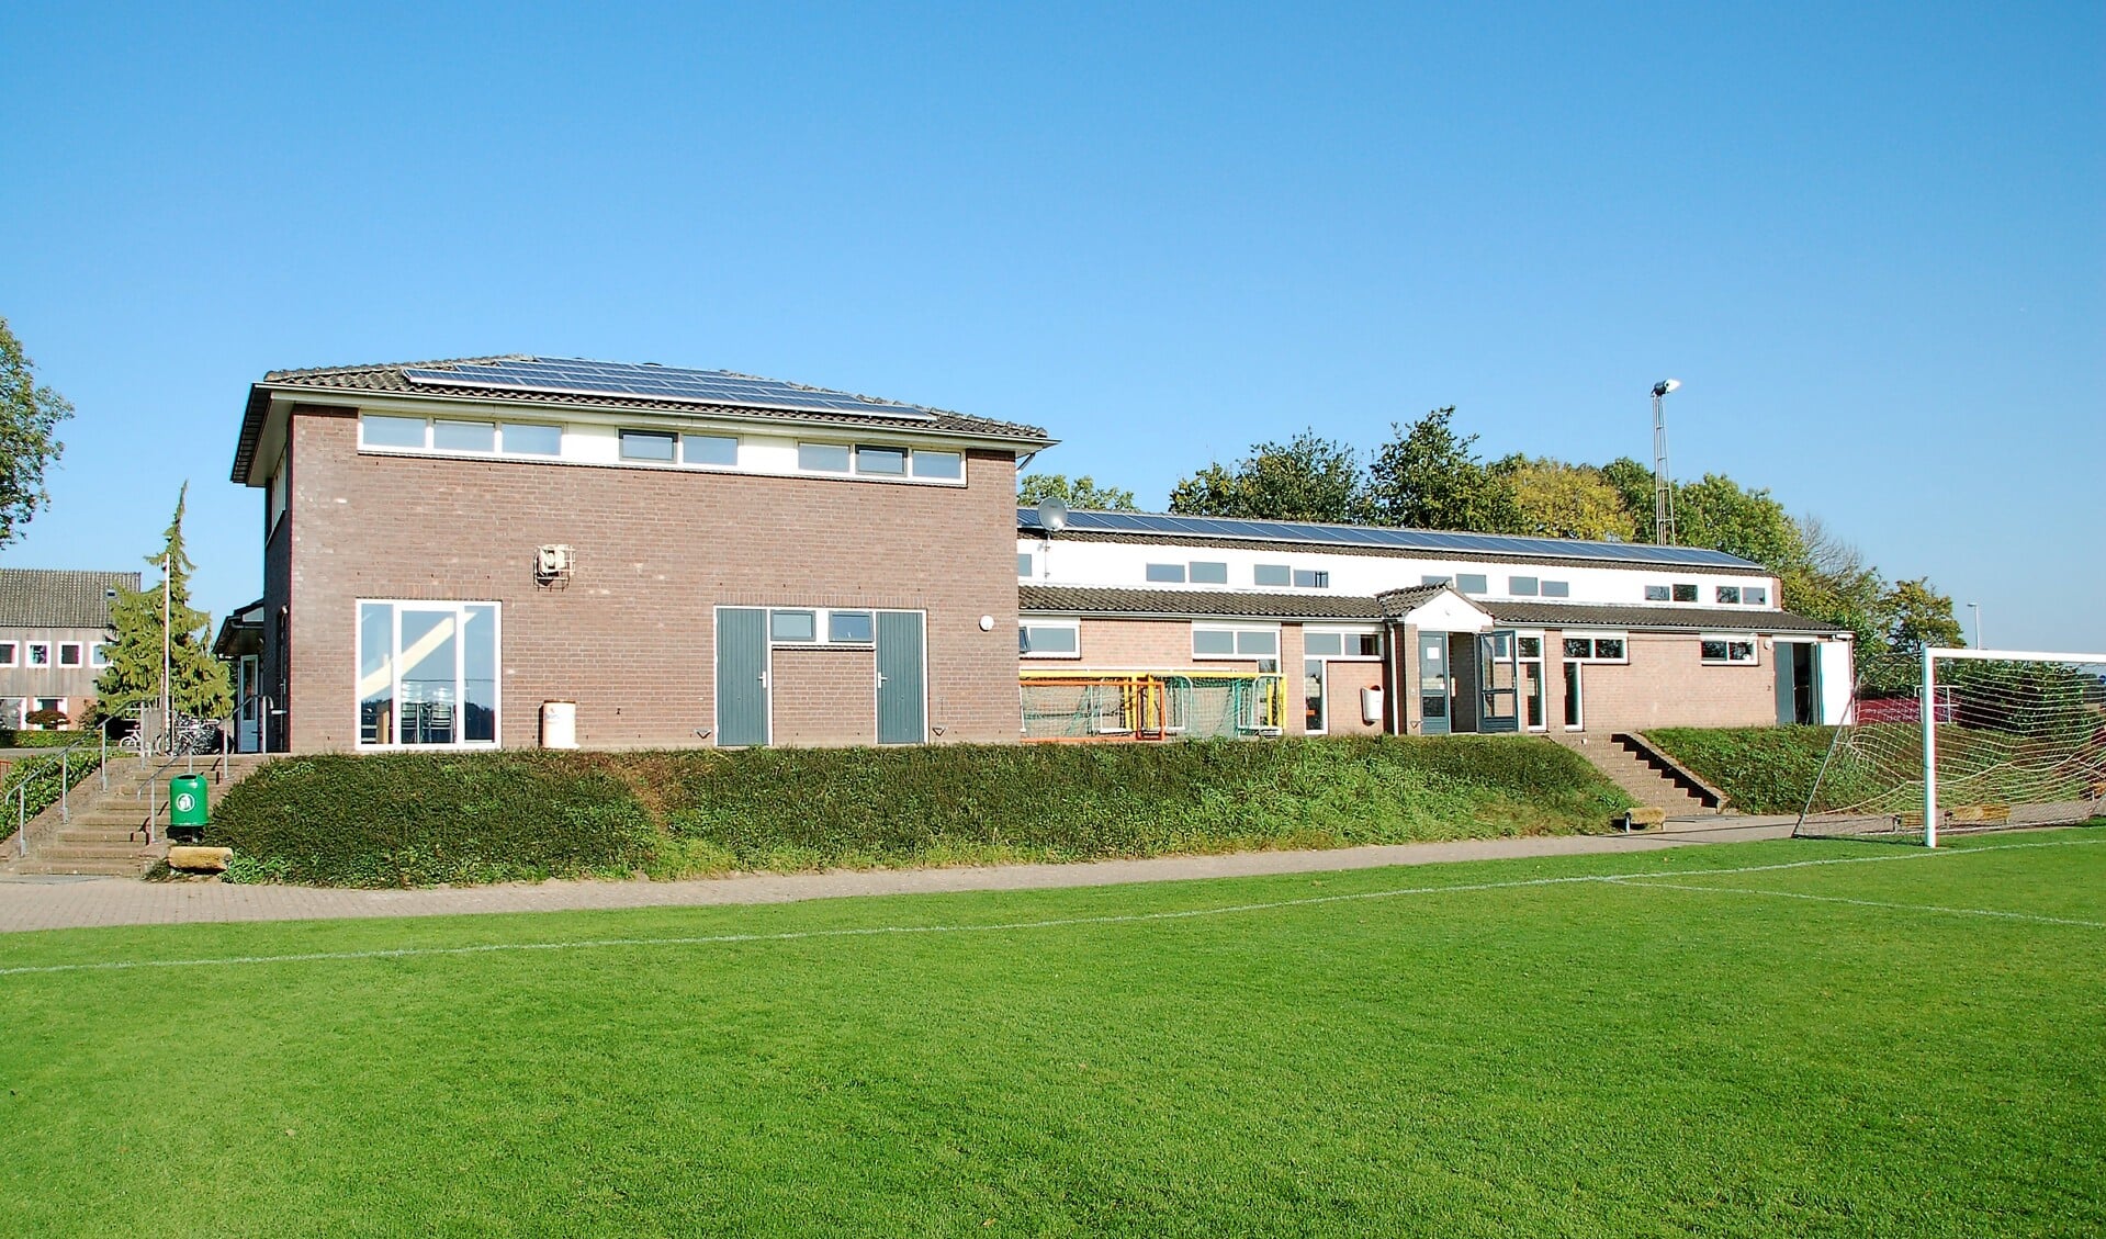
<instances>
[{"instance_id":1,"label":"bright green mown grass football field in the foreground","mask_svg":"<svg viewBox=\"0 0 2106 1239\"><path fill-rule=\"evenodd\" d=\"M0 1024L4 1235L2106 1231L2098 828L29 933Z\"/></svg>"}]
</instances>

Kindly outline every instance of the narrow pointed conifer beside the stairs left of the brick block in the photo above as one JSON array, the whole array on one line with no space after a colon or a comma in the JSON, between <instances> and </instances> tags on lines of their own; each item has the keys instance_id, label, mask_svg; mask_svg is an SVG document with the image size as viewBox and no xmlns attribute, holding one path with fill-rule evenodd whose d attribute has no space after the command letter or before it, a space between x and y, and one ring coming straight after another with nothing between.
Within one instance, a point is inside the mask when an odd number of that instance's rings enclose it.
<instances>
[{"instance_id":1,"label":"narrow pointed conifer beside the stairs left of the brick block","mask_svg":"<svg viewBox=\"0 0 2106 1239\"><path fill-rule=\"evenodd\" d=\"M227 689L227 668L213 657L213 617L190 607L190 573L196 565L183 552L183 504L190 483L175 499L175 520L168 523L162 554L145 563L164 569L168 607L168 702L171 708L198 719L223 719L234 706ZM107 647L110 668L95 681L95 708L101 716L128 714L139 706L160 708L162 660L162 584L145 590L120 590L110 605L114 641Z\"/></svg>"}]
</instances>

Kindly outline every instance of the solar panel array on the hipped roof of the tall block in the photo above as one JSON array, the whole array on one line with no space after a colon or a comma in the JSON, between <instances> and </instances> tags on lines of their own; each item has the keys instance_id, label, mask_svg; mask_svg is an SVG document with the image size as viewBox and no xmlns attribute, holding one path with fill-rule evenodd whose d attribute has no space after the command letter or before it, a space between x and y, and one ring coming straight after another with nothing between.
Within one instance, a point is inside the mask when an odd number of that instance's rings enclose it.
<instances>
[{"instance_id":1,"label":"solar panel array on the hipped roof of the tall block","mask_svg":"<svg viewBox=\"0 0 2106 1239\"><path fill-rule=\"evenodd\" d=\"M693 405L735 405L741 409L786 409L794 413L857 413L933 421L935 413L916 405L870 400L849 392L804 388L779 379L756 379L731 371L596 362L581 358L501 358L459 362L451 369L404 367L402 377L428 388L501 388L512 392L560 392L569 396L649 396Z\"/></svg>"}]
</instances>

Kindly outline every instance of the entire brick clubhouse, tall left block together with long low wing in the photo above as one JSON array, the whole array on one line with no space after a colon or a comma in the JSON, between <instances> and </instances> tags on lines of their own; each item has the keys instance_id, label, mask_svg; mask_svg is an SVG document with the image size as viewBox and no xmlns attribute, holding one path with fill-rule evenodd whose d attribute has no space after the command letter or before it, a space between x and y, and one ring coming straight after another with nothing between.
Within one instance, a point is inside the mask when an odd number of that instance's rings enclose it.
<instances>
[{"instance_id":1,"label":"entire brick clubhouse, tall left block together with long low wing","mask_svg":"<svg viewBox=\"0 0 2106 1239\"><path fill-rule=\"evenodd\" d=\"M215 643L238 740L1584 735L1849 706L1849 634L1731 554L1129 512L1047 527L1015 478L1051 445L727 371L270 373L234 455L263 596Z\"/></svg>"}]
</instances>

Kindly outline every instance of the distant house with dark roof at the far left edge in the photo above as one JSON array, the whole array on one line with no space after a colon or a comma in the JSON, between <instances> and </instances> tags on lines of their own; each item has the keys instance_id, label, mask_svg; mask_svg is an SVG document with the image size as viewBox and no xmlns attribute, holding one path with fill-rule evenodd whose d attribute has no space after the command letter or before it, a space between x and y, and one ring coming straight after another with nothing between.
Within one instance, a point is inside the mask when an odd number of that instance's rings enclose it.
<instances>
[{"instance_id":1,"label":"distant house with dark roof at the far left edge","mask_svg":"<svg viewBox=\"0 0 2106 1239\"><path fill-rule=\"evenodd\" d=\"M118 590L137 592L139 573L0 569L0 727L38 710L78 725L95 708Z\"/></svg>"}]
</instances>

